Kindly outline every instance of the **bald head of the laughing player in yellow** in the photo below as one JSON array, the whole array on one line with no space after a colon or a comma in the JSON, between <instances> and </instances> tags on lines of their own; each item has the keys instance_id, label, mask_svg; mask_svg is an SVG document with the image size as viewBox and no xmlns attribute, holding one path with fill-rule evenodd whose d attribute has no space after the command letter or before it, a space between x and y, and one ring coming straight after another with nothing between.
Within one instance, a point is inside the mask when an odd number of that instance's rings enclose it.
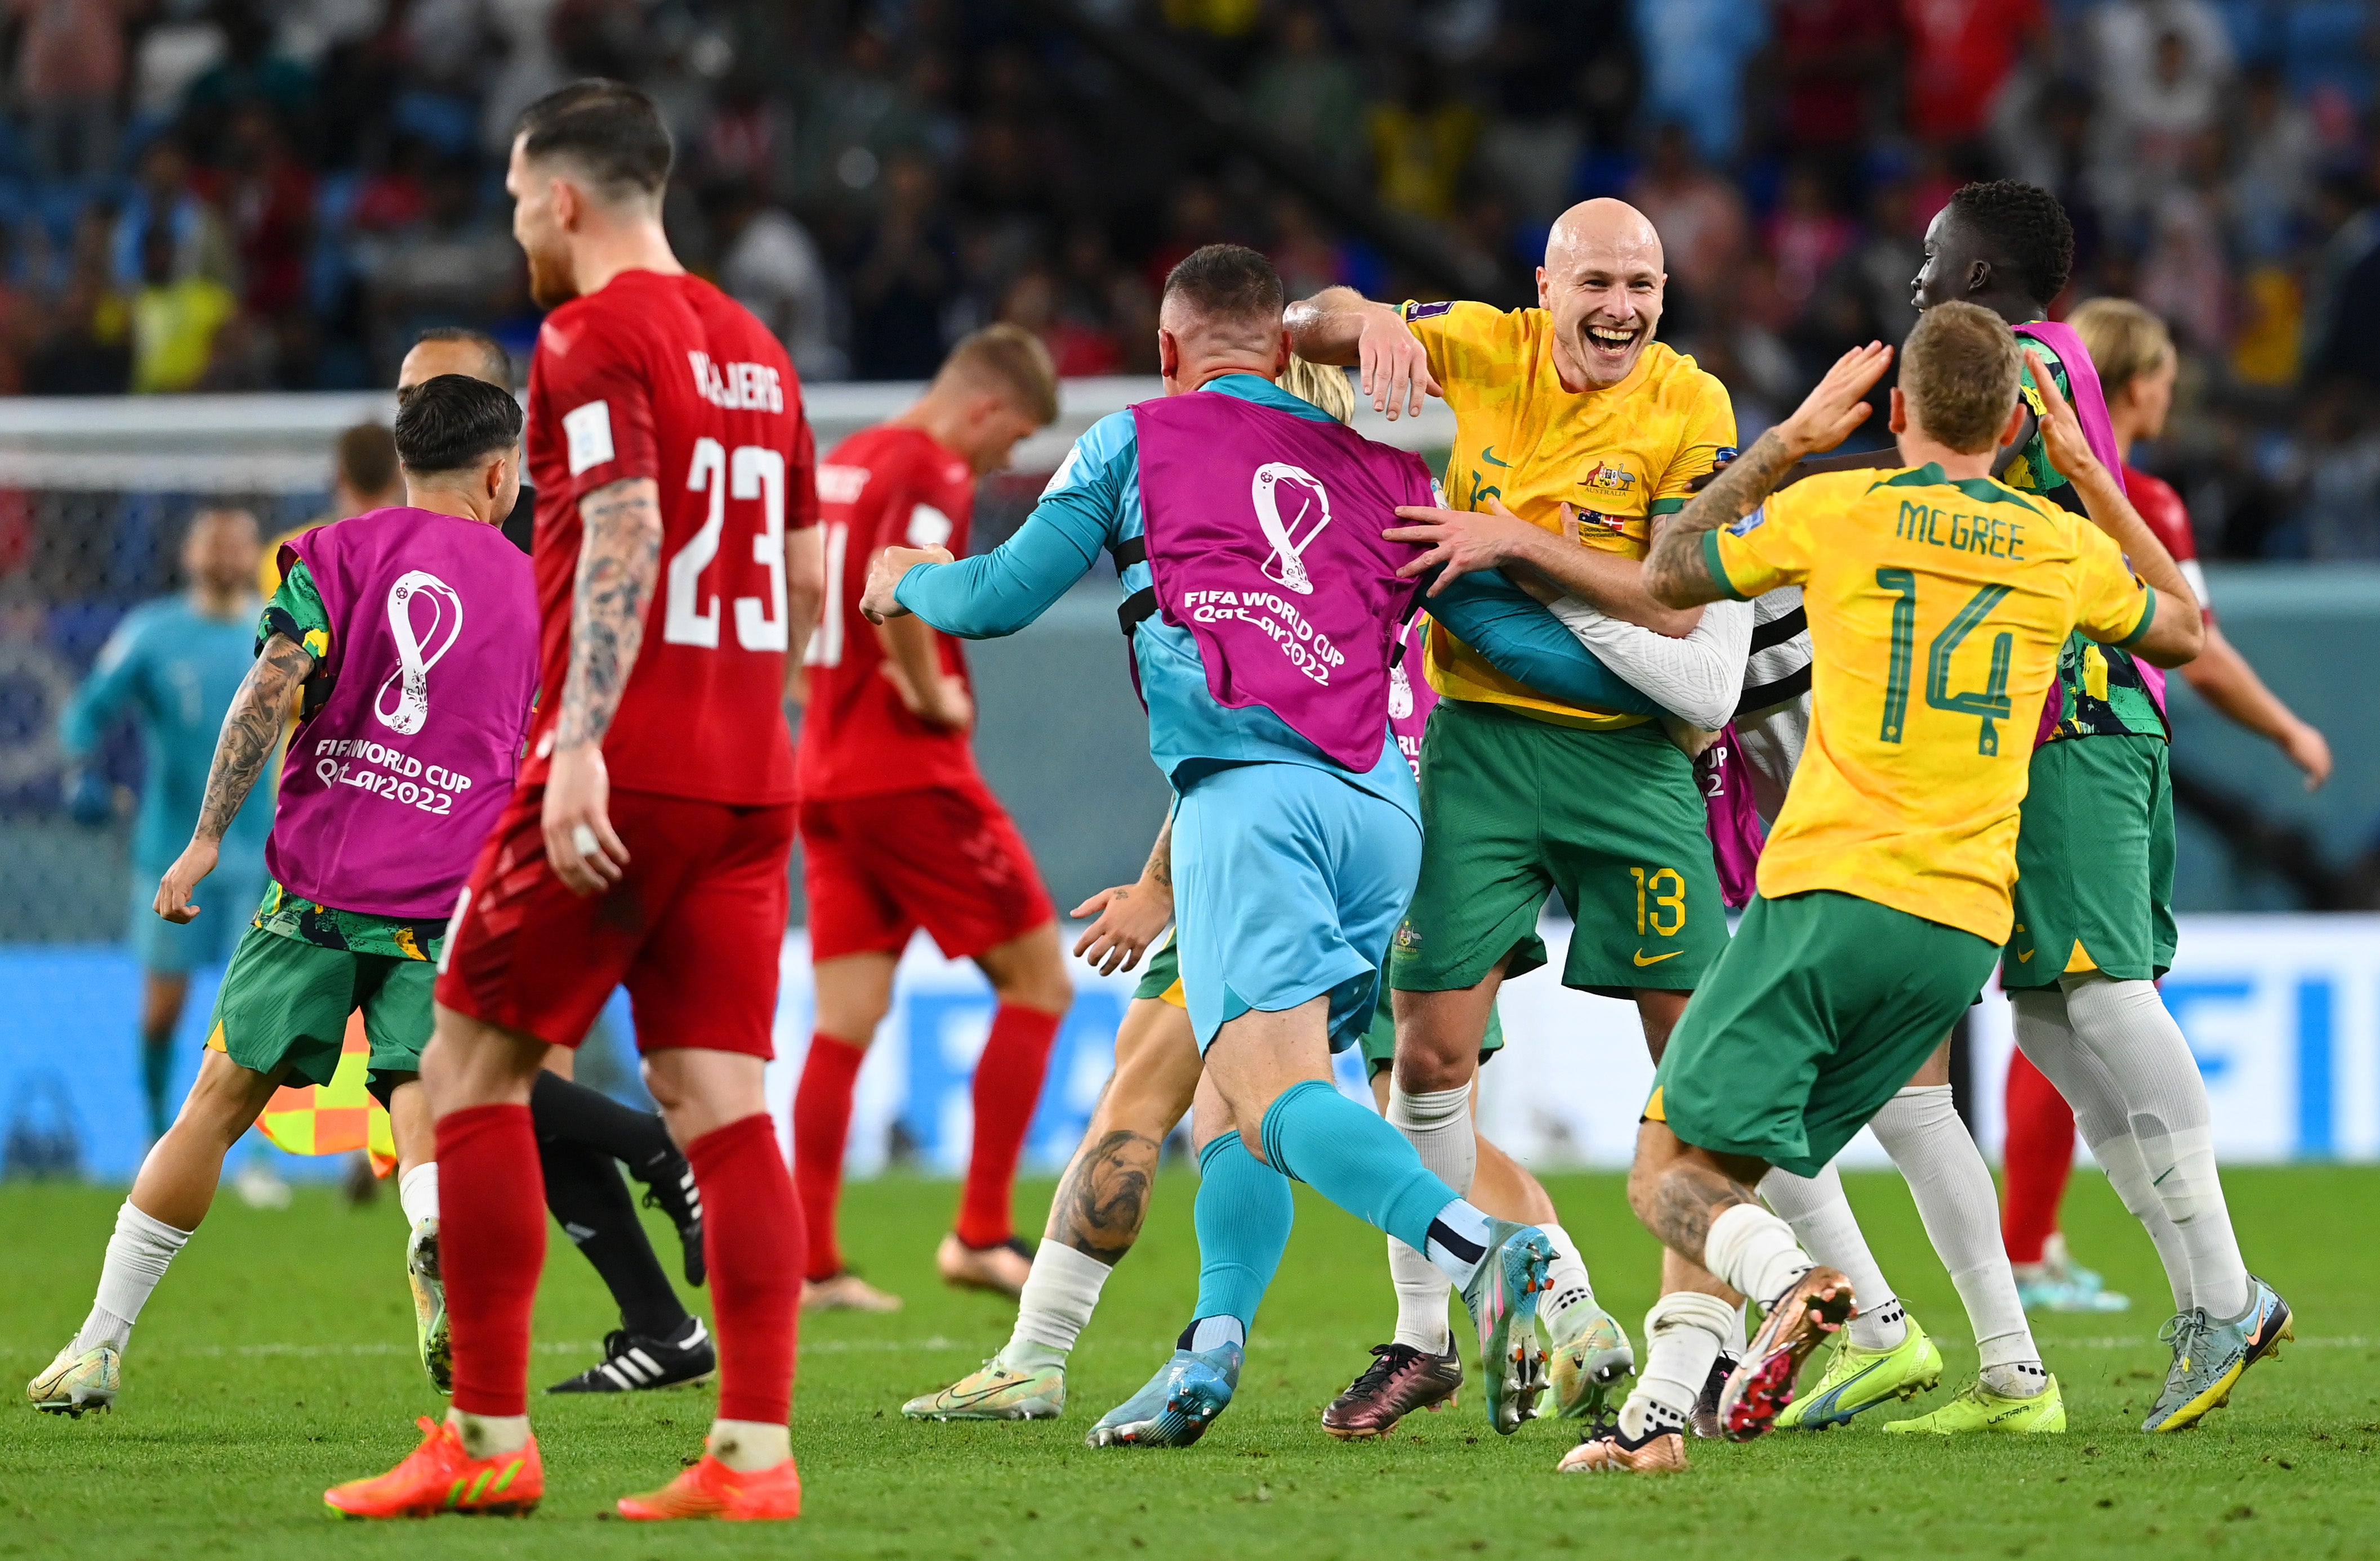
<instances>
[{"instance_id":1,"label":"bald head of the laughing player in yellow","mask_svg":"<svg viewBox=\"0 0 2380 1561\"><path fill-rule=\"evenodd\" d=\"M1626 200L1580 200L1554 219L1537 302L1554 316L1564 390L1604 390L1635 374L1661 324L1661 236Z\"/></svg>"}]
</instances>

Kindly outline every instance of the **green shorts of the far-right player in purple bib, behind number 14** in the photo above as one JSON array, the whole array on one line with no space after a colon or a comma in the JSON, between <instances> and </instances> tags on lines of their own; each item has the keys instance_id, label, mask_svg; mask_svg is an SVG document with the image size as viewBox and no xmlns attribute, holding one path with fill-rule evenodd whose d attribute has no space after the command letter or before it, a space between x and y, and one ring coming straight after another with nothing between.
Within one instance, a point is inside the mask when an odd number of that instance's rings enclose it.
<instances>
[{"instance_id":1,"label":"green shorts of the far-right player in purple bib, behind number 14","mask_svg":"<svg viewBox=\"0 0 2380 1561\"><path fill-rule=\"evenodd\" d=\"M2173 966L2173 778L2163 738L2059 738L2033 754L2016 835L2016 928L1999 985Z\"/></svg>"}]
</instances>

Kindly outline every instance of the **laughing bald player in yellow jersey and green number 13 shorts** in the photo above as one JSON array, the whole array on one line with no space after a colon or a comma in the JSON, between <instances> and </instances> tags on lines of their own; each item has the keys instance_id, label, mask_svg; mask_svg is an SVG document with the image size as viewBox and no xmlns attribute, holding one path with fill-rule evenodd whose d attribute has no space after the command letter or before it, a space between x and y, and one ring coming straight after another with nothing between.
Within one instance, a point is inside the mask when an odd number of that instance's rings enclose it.
<instances>
[{"instance_id":1,"label":"laughing bald player in yellow jersey and green number 13 shorts","mask_svg":"<svg viewBox=\"0 0 2380 1561\"><path fill-rule=\"evenodd\" d=\"M1699 609L1654 604L1642 557L1654 521L1735 445L1735 412L1714 376L1654 340L1664 281L1652 224L1590 200L1547 236L1535 309L1397 309L1328 288L1292 305L1288 326L1302 357L1361 364L1376 409L1418 412L1423 395L1454 409L1449 507L1407 509L1416 526L1392 533L1433 543L1426 564L1526 571L1611 619L1687 635ZM1749 612L1733 612L1749 640ZM1509 678L1445 621L1426 671L1442 697L1423 740L1421 880L1390 949L1390 1121L1464 1187L1488 1014L1502 980L1545 964L1547 895L1576 919L1564 985L1635 997L1656 1057L1728 923L1692 764L1656 721ZM1442 1333L1426 1259L1392 1252L1392 1268L1397 1340ZM1547 1311L1557 1349L1568 1316Z\"/></svg>"}]
</instances>

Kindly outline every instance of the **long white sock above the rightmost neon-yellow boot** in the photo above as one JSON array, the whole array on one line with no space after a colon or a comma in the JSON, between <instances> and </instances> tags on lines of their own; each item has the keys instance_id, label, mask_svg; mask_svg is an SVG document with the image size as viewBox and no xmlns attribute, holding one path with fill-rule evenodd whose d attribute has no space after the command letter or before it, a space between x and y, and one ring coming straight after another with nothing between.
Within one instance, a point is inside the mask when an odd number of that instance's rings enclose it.
<instances>
[{"instance_id":1,"label":"long white sock above the rightmost neon-yellow boot","mask_svg":"<svg viewBox=\"0 0 2380 1561\"><path fill-rule=\"evenodd\" d=\"M1952 1107L1949 1085L1911 1085L1885 1102L1868 1123L1885 1147L1909 1195L1925 1221L1925 1237L1959 1287L1966 1321L1975 1330L1975 1354L1985 1373L1992 1366L2040 1366L2025 1323L2025 1304L2016 1299L2016 1273L2009 1247L1999 1237L1999 1195L1983 1152L1968 1137ZM1990 1378L1987 1378L1990 1380ZM2047 1380L2042 1375L2040 1380ZM2002 1392L1994 1387L1994 1392ZM2030 1397L2030 1394L2013 1394Z\"/></svg>"}]
</instances>

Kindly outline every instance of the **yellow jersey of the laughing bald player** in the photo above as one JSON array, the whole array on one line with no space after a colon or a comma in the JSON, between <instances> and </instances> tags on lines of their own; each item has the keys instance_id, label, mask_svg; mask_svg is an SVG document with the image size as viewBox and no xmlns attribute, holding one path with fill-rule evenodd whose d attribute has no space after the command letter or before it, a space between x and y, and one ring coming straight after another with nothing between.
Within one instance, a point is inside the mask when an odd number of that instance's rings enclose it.
<instances>
[{"instance_id":1,"label":"yellow jersey of the laughing bald player","mask_svg":"<svg viewBox=\"0 0 2380 1561\"><path fill-rule=\"evenodd\" d=\"M1609 390L1571 393L1554 369L1545 309L1473 302L1404 305L1404 326L1430 355L1454 412L1447 507L1507 509L1580 547L1642 559L1652 519L1685 507L1695 478L1735 445L1728 388L1664 343ZM1561 507L1573 514L1564 524ZM1504 704L1559 726L1618 728L1645 716L1566 704L1507 678L1435 628L1423 669L1447 700Z\"/></svg>"}]
</instances>

